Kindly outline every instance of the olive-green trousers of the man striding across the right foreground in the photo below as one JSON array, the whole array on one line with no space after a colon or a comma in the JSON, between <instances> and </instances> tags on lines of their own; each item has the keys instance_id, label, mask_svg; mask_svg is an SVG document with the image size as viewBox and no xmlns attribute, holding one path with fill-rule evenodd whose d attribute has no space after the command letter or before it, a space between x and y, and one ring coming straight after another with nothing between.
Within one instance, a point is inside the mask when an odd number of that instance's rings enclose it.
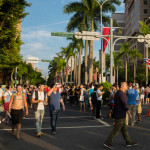
<instances>
[{"instance_id":1,"label":"olive-green trousers of the man striding across the right foreground","mask_svg":"<svg viewBox=\"0 0 150 150\"><path fill-rule=\"evenodd\" d=\"M131 144L132 141L131 141L129 134L128 134L125 118L124 119L115 119L114 128L112 129L111 133L107 137L105 143L108 145L111 145L113 138L115 136L117 136L120 131L122 133L124 140L126 141L126 144Z\"/></svg>"}]
</instances>

